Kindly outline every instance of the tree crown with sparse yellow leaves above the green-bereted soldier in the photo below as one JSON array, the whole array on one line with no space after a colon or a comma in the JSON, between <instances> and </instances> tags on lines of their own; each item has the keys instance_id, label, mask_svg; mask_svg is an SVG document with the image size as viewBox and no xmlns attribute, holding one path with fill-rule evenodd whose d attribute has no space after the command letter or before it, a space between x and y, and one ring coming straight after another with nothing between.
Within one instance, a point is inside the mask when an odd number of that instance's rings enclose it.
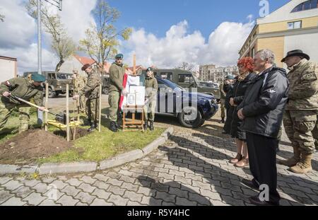
<instances>
[{"instance_id":1,"label":"tree crown with sparse yellow leaves above the green-bereted soldier","mask_svg":"<svg viewBox=\"0 0 318 220\"><path fill-rule=\"evenodd\" d=\"M106 60L117 53L118 37L129 40L132 30L124 28L117 31L114 23L119 18L119 11L111 8L105 0L98 0L93 15L96 24L90 24L90 28L86 30L86 39L81 40L80 45L81 50L87 52L101 66L100 71L103 72Z\"/></svg>"}]
</instances>

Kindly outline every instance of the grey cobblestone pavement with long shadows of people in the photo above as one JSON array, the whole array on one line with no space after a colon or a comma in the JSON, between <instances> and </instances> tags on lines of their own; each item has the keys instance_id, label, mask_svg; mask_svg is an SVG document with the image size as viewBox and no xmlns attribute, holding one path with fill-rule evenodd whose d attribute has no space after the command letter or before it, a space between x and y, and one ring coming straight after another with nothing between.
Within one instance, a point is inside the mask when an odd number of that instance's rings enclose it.
<instances>
[{"instance_id":1,"label":"grey cobblestone pavement with long shadows of people","mask_svg":"<svg viewBox=\"0 0 318 220\"><path fill-rule=\"evenodd\" d=\"M0 205L250 205L248 197L256 192L240 183L251 178L249 169L228 163L236 155L235 143L221 134L218 120L195 130L178 127L177 120L158 120L174 124L175 133L146 158L98 173L37 179L2 175ZM284 136L278 158L290 156ZM295 175L278 165L282 205L318 204L317 154L313 168L310 174Z\"/></svg>"}]
</instances>

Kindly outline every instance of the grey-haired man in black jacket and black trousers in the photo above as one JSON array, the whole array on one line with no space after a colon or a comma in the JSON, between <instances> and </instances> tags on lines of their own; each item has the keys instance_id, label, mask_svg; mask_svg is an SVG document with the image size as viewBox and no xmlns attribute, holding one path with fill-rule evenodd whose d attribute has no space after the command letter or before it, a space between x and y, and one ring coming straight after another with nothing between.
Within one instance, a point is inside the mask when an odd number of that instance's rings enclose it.
<instances>
[{"instance_id":1,"label":"grey-haired man in black jacket and black trousers","mask_svg":"<svg viewBox=\"0 0 318 220\"><path fill-rule=\"evenodd\" d=\"M277 192L276 149L278 132L288 100L288 79L285 69L273 66L275 57L271 50L261 50L254 57L258 76L252 81L239 106L237 115L242 129L247 132L249 168L254 177L242 183L264 190L249 201L257 205L279 205Z\"/></svg>"}]
</instances>

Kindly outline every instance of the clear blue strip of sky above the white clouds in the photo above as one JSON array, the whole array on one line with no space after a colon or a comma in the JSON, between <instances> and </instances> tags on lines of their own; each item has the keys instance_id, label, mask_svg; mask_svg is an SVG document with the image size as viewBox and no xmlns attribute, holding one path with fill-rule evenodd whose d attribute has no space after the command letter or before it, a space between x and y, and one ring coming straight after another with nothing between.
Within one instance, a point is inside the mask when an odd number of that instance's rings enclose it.
<instances>
[{"instance_id":1,"label":"clear blue strip of sky above the white clouds","mask_svg":"<svg viewBox=\"0 0 318 220\"><path fill-rule=\"evenodd\" d=\"M289 0L269 0L270 12ZM247 16L259 17L259 0L109 0L122 13L119 27L144 28L163 37L171 25L187 20L189 31L199 30L204 37L224 21L245 23Z\"/></svg>"}]
</instances>

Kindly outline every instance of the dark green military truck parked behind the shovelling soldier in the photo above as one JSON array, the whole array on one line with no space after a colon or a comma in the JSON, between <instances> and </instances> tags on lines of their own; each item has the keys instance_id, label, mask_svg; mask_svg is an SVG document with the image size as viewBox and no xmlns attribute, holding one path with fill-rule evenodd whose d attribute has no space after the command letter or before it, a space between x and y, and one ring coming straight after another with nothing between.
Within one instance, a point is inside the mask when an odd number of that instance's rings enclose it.
<instances>
[{"instance_id":1,"label":"dark green military truck parked behind the shovelling soldier","mask_svg":"<svg viewBox=\"0 0 318 220\"><path fill-rule=\"evenodd\" d=\"M36 72L25 72L24 77ZM72 74L64 74L56 71L42 71L42 75L47 79L49 84L49 98L54 98L60 94L66 94L66 84L69 84L69 94L73 95Z\"/></svg>"}]
</instances>

